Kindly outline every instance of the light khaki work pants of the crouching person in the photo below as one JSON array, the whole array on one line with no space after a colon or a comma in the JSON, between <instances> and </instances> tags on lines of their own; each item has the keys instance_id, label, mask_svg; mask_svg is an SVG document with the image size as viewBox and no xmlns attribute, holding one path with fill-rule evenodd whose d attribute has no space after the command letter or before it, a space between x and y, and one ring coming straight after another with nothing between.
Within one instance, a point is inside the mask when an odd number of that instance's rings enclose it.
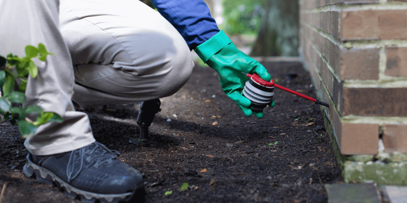
<instances>
[{"instance_id":1,"label":"light khaki work pants of the crouching person","mask_svg":"<svg viewBox=\"0 0 407 203\"><path fill-rule=\"evenodd\" d=\"M35 155L79 149L95 140L88 116L74 110L166 97L188 80L186 42L157 11L138 0L0 0L0 55L25 56L43 43L54 56L35 60L27 105L56 112L26 139ZM72 103L72 101L74 103Z\"/></svg>"}]
</instances>

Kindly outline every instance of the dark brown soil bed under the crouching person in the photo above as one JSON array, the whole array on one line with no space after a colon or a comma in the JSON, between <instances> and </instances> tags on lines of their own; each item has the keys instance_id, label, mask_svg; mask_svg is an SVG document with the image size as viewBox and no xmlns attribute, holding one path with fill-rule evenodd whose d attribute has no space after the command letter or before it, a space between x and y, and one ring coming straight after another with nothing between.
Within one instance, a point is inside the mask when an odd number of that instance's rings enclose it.
<instances>
[{"instance_id":1,"label":"dark brown soil bed under the crouching person","mask_svg":"<svg viewBox=\"0 0 407 203\"><path fill-rule=\"evenodd\" d=\"M263 65L277 84L315 97L300 63ZM96 140L144 174L145 202L327 202L323 185L342 178L319 106L279 89L274 99L263 119L245 117L221 90L217 73L196 67L179 92L161 99L162 111L149 127L155 144L129 143L138 137L140 104L97 107L88 114ZM24 177L28 152L18 128L3 123L0 131L0 184L10 182L3 203L79 202ZM189 187L181 192L183 183Z\"/></svg>"}]
</instances>

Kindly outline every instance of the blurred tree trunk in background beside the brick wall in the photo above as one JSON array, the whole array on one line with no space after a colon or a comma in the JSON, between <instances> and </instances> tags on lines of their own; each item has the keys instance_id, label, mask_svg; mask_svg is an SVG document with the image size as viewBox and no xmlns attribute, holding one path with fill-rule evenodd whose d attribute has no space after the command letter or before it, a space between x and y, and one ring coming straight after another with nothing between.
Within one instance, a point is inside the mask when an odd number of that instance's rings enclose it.
<instances>
[{"instance_id":1,"label":"blurred tree trunk in background beside the brick wall","mask_svg":"<svg viewBox=\"0 0 407 203\"><path fill-rule=\"evenodd\" d=\"M251 56L298 56L298 0L265 0Z\"/></svg>"}]
</instances>

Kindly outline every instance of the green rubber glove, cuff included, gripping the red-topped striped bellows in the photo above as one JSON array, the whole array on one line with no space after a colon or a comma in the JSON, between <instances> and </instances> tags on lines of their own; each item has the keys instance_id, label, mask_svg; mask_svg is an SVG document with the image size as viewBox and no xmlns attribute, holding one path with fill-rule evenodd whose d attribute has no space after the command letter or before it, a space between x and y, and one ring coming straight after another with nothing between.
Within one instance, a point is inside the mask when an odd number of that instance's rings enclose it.
<instances>
[{"instance_id":1,"label":"green rubber glove, cuff included, gripping the red-topped striped bellows","mask_svg":"<svg viewBox=\"0 0 407 203\"><path fill-rule=\"evenodd\" d=\"M243 96L245 82L249 80L244 73L256 73L260 78L270 81L271 76L258 61L250 58L236 48L228 36L221 30L216 35L199 45L195 52L209 67L219 73L219 82L223 91L249 117L252 113L263 118L263 111L252 112L252 102ZM275 105L274 100L269 106Z\"/></svg>"}]
</instances>

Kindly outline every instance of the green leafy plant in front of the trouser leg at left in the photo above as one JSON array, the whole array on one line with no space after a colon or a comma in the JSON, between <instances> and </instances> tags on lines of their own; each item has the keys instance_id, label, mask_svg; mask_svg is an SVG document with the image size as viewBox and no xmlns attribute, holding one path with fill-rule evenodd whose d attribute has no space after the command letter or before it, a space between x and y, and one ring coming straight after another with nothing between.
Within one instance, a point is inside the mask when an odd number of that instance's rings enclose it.
<instances>
[{"instance_id":1,"label":"green leafy plant in front of the trouser leg at left","mask_svg":"<svg viewBox=\"0 0 407 203\"><path fill-rule=\"evenodd\" d=\"M20 134L26 138L35 134L39 125L48 122L62 122L61 116L54 112L44 112L39 106L26 106L26 90L28 77L37 77L38 68L32 58L45 61L48 52L42 43L38 47L27 45L26 56L19 58L12 53L7 58L0 56L0 86L2 86L2 97L0 98L0 114L4 121L18 125ZM28 114L37 115L35 121L27 117ZM32 117L31 117L32 118ZM2 122L4 122L2 120Z\"/></svg>"}]
</instances>

